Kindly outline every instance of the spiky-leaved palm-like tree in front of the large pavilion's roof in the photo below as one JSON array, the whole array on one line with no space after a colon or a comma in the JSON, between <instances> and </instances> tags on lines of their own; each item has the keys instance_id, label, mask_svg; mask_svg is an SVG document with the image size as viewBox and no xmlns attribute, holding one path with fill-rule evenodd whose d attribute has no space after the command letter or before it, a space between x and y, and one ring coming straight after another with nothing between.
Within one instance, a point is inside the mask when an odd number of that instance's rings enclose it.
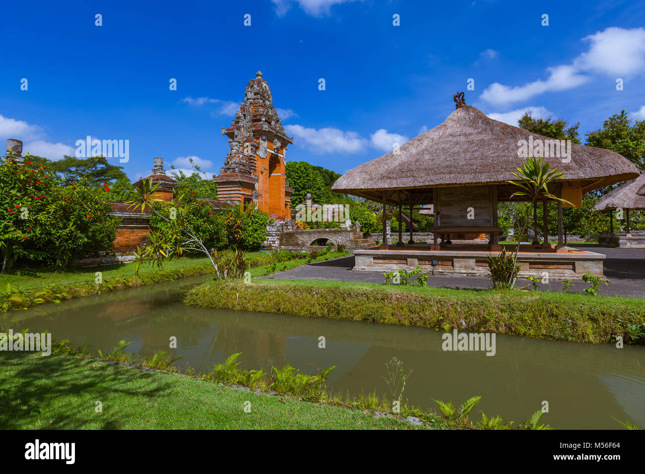
<instances>
[{"instance_id":1,"label":"spiky-leaved palm-like tree in front of the large pavilion's roof","mask_svg":"<svg viewBox=\"0 0 645 474\"><path fill-rule=\"evenodd\" d=\"M522 191L517 191L511 195L526 196L533 204L533 244L538 244L537 241L537 202L546 199L553 201L561 201L564 204L571 204L571 202L561 197L557 197L549 192L548 185L556 179L566 176L566 172L559 170L549 171L550 163L542 163L542 157L527 157L526 161L522 162L522 168L517 168L517 173L512 173L517 176L521 181L508 181L508 183L515 184L522 188ZM573 204L571 204L573 206ZM546 235L544 241L546 242Z\"/></svg>"}]
</instances>

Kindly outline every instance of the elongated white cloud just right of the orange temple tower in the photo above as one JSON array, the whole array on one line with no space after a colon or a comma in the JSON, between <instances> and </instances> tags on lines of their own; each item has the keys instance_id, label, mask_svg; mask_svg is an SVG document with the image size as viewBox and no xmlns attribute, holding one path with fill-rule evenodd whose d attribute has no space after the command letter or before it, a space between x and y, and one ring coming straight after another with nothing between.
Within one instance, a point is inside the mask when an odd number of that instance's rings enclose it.
<instances>
[{"instance_id":1,"label":"elongated white cloud just right of the orange temple tower","mask_svg":"<svg viewBox=\"0 0 645 474\"><path fill-rule=\"evenodd\" d=\"M303 143L313 153L357 153L367 144L356 132L343 132L337 128L305 128L302 125L286 125L284 130Z\"/></svg>"}]
</instances>

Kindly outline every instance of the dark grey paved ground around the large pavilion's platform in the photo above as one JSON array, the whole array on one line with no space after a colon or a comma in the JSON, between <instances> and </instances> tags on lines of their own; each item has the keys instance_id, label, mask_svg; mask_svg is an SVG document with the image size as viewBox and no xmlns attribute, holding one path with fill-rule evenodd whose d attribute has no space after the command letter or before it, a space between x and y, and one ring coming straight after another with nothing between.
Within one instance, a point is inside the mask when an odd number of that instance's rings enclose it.
<instances>
[{"instance_id":1,"label":"dark grey paved ground around the large pavilion's platform","mask_svg":"<svg viewBox=\"0 0 645 474\"><path fill-rule=\"evenodd\" d=\"M603 253L607 256L604 261L604 274L609 280L609 286L602 285L601 295L645 298L645 248L606 248L585 244L571 245L571 248ZM354 256L350 255L293 268L293 270L276 273L275 277L286 280L335 280L365 283L382 283L384 281L381 272L352 272L353 266ZM518 284L524 286L531 284L531 282L521 279ZM589 286L582 281L576 281L574 284L571 291L576 293L582 293L582 289ZM433 277L430 275L428 286L486 290L490 288L490 280L481 277ZM541 285L542 291L560 291L561 288L561 281L550 281L550 284Z\"/></svg>"}]
</instances>

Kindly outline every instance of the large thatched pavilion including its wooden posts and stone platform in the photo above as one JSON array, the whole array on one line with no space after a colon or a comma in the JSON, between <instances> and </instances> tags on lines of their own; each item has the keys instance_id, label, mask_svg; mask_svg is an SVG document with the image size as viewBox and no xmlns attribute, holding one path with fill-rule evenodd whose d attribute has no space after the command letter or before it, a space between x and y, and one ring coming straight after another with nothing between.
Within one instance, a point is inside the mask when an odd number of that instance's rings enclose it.
<instances>
[{"instance_id":1,"label":"large thatched pavilion including its wooden posts and stone platform","mask_svg":"<svg viewBox=\"0 0 645 474\"><path fill-rule=\"evenodd\" d=\"M512 173L527 156L542 156L551 163L551 169L566 172L550 192L576 206L582 206L584 193L639 176L636 166L618 153L564 143L490 119L466 105L463 93L454 99L456 110L444 123L353 168L333 185L335 192L380 202L383 208L397 206L410 214L413 208L433 205L433 244L404 244L399 225L396 246L384 243L379 248L355 251L355 270L382 271L421 264L432 265L432 271L436 268L440 273L485 272L478 267L486 266L486 255L501 250L497 203L524 199L513 197L519 189L508 181L517 179ZM588 271L602 275L604 255L564 246L561 203L558 215L559 244L553 248L545 239L539 248L522 246L520 274L546 268L554 277L575 278ZM450 240L465 233L490 235L488 246L455 245ZM440 235L448 237L441 244L437 242Z\"/></svg>"}]
</instances>

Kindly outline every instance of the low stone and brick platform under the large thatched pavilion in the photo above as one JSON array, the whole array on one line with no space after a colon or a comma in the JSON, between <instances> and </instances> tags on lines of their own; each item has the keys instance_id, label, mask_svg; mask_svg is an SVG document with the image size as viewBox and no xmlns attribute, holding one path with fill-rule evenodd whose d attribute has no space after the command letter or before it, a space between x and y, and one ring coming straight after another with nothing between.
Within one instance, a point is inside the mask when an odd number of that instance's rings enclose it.
<instances>
[{"instance_id":1,"label":"low stone and brick platform under the large thatched pavilion","mask_svg":"<svg viewBox=\"0 0 645 474\"><path fill-rule=\"evenodd\" d=\"M403 268L413 270L417 264L430 275L488 276L488 255L485 244L454 244L431 250L427 244L390 246L388 250L377 247L354 250L355 272L393 272ZM514 245L505 245L507 252L514 252ZM498 252L492 252L496 255ZM523 244L517 254L522 264L520 277L543 277L546 272L550 279L581 280L584 273L604 277L602 253L569 249L556 253L553 248L536 249ZM434 270L434 273L433 273Z\"/></svg>"}]
</instances>

